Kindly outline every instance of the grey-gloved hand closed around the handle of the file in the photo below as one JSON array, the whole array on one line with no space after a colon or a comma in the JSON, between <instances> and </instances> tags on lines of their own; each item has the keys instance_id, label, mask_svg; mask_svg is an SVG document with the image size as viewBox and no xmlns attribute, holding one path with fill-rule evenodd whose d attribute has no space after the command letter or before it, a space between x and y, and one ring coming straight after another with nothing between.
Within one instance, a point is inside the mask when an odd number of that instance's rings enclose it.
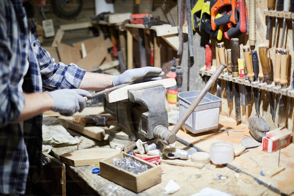
<instances>
[{"instance_id":1,"label":"grey-gloved hand closed around the handle of the file","mask_svg":"<svg viewBox=\"0 0 294 196\"><path fill-rule=\"evenodd\" d=\"M46 93L53 98L51 110L64 116L72 116L77 111L83 111L86 107L84 96L91 96L91 93L82 89L60 89Z\"/></svg>"}]
</instances>

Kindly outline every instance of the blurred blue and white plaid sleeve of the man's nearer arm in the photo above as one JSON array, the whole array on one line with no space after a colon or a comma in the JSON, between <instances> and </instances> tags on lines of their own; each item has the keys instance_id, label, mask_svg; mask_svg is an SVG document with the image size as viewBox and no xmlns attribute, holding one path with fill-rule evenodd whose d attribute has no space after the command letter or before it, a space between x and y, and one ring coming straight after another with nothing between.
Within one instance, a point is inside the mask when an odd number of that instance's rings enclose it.
<instances>
[{"instance_id":1,"label":"blurred blue and white plaid sleeve of the man's nearer arm","mask_svg":"<svg viewBox=\"0 0 294 196\"><path fill-rule=\"evenodd\" d=\"M18 84L24 75L21 64L27 60L25 48L29 44L27 40L19 40L19 34L15 33L17 23L12 25L8 20L12 16L8 16L5 2L0 1L0 127L17 120L24 109L24 95Z\"/></svg>"}]
</instances>

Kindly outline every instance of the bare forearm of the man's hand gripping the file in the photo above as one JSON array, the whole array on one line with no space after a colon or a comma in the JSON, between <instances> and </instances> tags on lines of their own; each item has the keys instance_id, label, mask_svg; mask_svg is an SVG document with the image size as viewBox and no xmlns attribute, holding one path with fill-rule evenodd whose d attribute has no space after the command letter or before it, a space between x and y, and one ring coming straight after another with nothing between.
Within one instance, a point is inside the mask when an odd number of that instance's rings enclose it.
<instances>
[{"instance_id":1,"label":"bare forearm of the man's hand gripping the file","mask_svg":"<svg viewBox=\"0 0 294 196\"><path fill-rule=\"evenodd\" d=\"M22 111L18 121L27 120L36 115L42 114L52 108L53 99L49 93L24 93L24 110Z\"/></svg>"}]
</instances>

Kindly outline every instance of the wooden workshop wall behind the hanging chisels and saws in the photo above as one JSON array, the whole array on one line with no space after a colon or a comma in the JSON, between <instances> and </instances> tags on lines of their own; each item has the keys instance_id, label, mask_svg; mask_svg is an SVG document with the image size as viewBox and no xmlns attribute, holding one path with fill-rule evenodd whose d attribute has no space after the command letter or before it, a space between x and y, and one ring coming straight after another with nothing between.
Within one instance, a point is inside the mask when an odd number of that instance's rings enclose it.
<instances>
[{"instance_id":1,"label":"wooden workshop wall behind the hanging chisels and saws","mask_svg":"<svg viewBox=\"0 0 294 196\"><path fill-rule=\"evenodd\" d=\"M245 5L248 6L248 0L245 1ZM275 17L272 17L273 19L272 19L272 24L271 24L270 40L266 40L266 30L267 30L268 16L265 16L264 10L268 10L267 1L257 0L256 1L256 42L255 42L255 46L251 46L250 48L251 48L251 50L256 50L257 53L258 53L258 45L260 43L267 43L269 45L269 53L270 53L270 61L271 61L271 65L270 65L271 83L272 83L273 82L273 76L274 76L274 68L275 68L275 48L280 47L283 19L282 18L278 19L279 23L278 23L278 29L277 29L276 43L275 43L275 46L272 46L273 45L273 40L275 39L274 38ZM293 52L293 46L292 46L292 41L293 41L292 29L291 29L292 20L287 19L286 22L287 22L287 28L286 28L286 31L285 31L286 34L285 34L285 38L284 38L283 48L289 49L289 55L290 55L289 65L288 65L288 76L287 76L287 79L288 79L287 88L289 88L290 82L292 81L292 75L293 75L293 70L294 70L294 65L293 65L294 62L292 61L292 56L294 55L294 52ZM200 36L200 35L198 33L196 33L196 37L198 37L198 36ZM242 47L244 45L249 45L248 35L241 35L238 38L239 38L239 43L240 43L240 58L244 58ZM202 38L200 38L200 39L202 39ZM196 40L195 39L193 40L194 45L197 45L197 43L198 43L197 40L198 40L197 38L196 38ZM226 49L230 48L230 41L228 41L228 40L226 40L224 38L222 39L222 41L225 42L225 48ZM215 40L210 40L210 43L211 43L212 46L215 46ZM200 45L200 46L203 48L203 45ZM216 58L215 58L215 48L214 47L212 47L212 52L213 52L212 69L215 69ZM199 53L194 52L194 55L195 55L194 56L194 60L195 60L195 59L199 58L201 55L204 56L204 51L202 50ZM258 57L259 57L259 54L258 54ZM260 63L260 58L259 58L259 63ZM197 68L193 67L195 65L196 65ZM192 70L194 70L194 72L192 73L193 76L191 76L191 74L190 74L190 78L192 80L192 81L190 81L190 84L192 85L193 80L195 82L195 78L196 78L197 86L201 86L203 84L203 81L201 81L199 79L199 74L197 76L197 71L196 70L198 70L200 67L205 66L205 60L200 62L198 65L196 63L194 63L193 66L192 66ZM222 81L221 92L222 92L222 105L221 105L220 114L235 120L234 102L228 103L227 100L226 100L225 81ZM216 95L216 85L213 85L213 88L211 89L211 93ZM280 94L278 94L277 97L279 99ZM277 102L278 102L278 99L277 99ZM254 101L253 101L253 96L252 95L251 95L251 100L252 100L252 105L249 105L249 106L246 106L246 107L243 107L241 105L241 120L242 120L241 122L243 124L246 124L246 125L248 125L249 116L253 115L253 114L256 114L255 106L253 106ZM289 107L289 97L287 99L287 105L286 105L287 110L288 110L288 107ZM275 121L273 121L271 113L270 113L268 91L262 90L261 103L260 103L260 115L262 115L268 121L268 123L270 124L271 130L279 127L279 125L278 125L278 118L279 118L278 110L279 110L279 105L277 104L277 109L275 111L276 112L276 117L275 117ZM290 115L287 114L286 123L281 124L280 127L286 126L289 130L291 130L293 132L293 115L294 115L294 113L293 113L293 101L292 101L291 108L290 108Z\"/></svg>"}]
</instances>

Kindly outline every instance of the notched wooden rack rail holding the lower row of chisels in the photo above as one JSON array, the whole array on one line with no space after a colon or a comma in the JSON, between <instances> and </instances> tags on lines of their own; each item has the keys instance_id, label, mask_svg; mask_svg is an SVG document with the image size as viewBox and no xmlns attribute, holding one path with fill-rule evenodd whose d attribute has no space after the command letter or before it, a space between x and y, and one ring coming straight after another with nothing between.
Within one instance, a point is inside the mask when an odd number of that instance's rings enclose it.
<instances>
[{"instance_id":1,"label":"notched wooden rack rail holding the lower row of chisels","mask_svg":"<svg viewBox=\"0 0 294 196\"><path fill-rule=\"evenodd\" d=\"M199 74L205 75L205 76L212 76L214 72L215 70L205 70L205 67L199 70ZM218 78L222 80L226 80L226 81L232 81L234 83L238 83L245 86L251 86L252 88L259 88L265 91L270 91L273 93L278 93L278 94L282 94L282 95L294 98L294 90L291 90L289 86L287 88L281 88L281 86L275 86L274 82L272 82L271 84L267 84L265 82L260 83L259 81L250 83L249 80L242 79L239 77L232 77L232 75L228 75L227 73L220 74Z\"/></svg>"}]
</instances>

